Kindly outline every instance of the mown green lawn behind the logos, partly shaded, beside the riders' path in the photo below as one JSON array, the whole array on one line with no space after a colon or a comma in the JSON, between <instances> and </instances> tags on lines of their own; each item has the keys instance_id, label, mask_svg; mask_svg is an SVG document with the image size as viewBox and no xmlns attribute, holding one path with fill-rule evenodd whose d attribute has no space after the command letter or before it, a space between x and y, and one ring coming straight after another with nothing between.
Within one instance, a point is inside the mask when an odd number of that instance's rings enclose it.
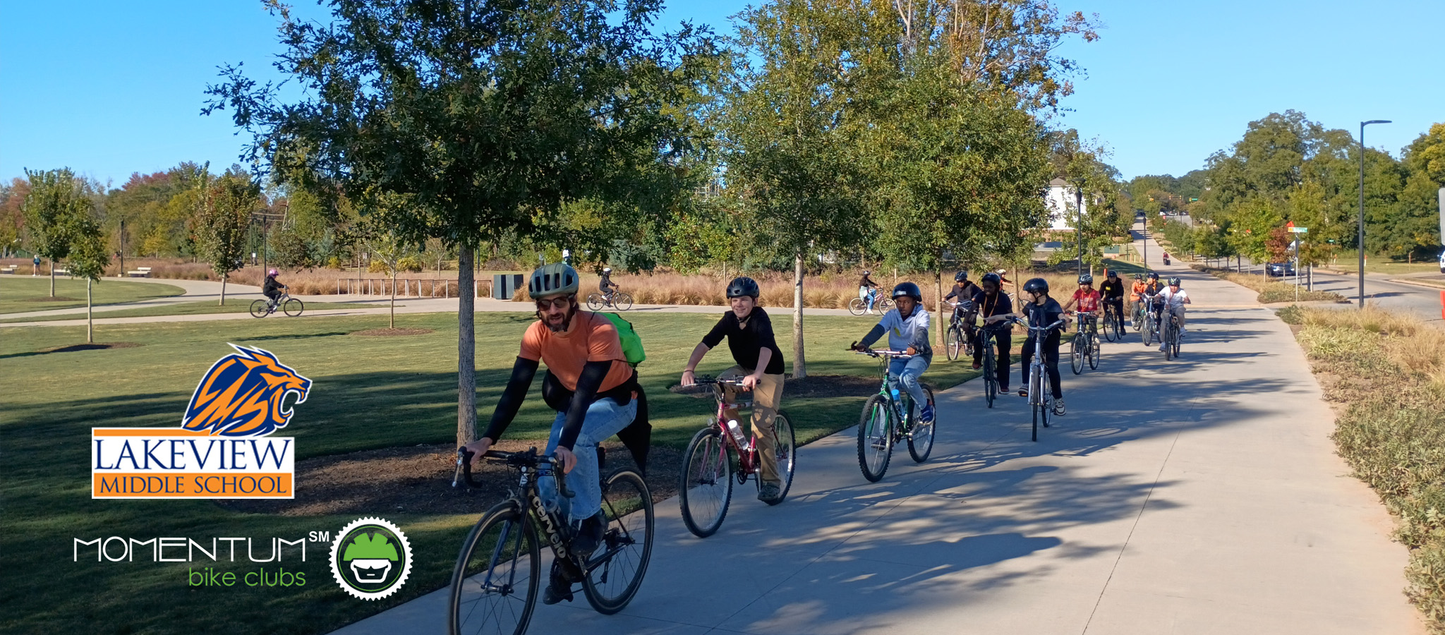
<instances>
[{"instance_id":1,"label":"mown green lawn behind the logos, partly shaded, beside the riders' path","mask_svg":"<svg viewBox=\"0 0 1445 635\"><path fill-rule=\"evenodd\" d=\"M678 380L688 353L717 315L631 312L627 318L647 347L640 376L653 411L653 443L681 447L712 405L666 388ZM91 499L90 428L176 427L197 380L231 351L225 346L230 341L267 349L312 379L308 401L296 406L296 418L283 432L296 437L298 459L452 441L455 315L399 317L397 327L435 330L423 336L348 336L377 327L377 320L367 315L107 325L98 330L97 341L140 346L55 353L43 350L82 343L84 327L6 330L0 337L0 365L7 370L9 388L0 396L0 434L6 440L6 451L0 453L0 474L4 474L0 498L6 502L0 551L9 571L36 574L23 579L25 593L9 594L10 609L0 618L0 631L195 634L225 623L227 632L240 635L312 634L444 587L474 515L377 509L377 515L400 524L416 557L406 586L379 602L344 594L331 580L325 550L316 545L306 563L282 564L306 574L303 587L290 589L188 587L189 563L72 560L72 538L295 540L309 531L337 531L350 522L351 516L238 513L208 500ZM477 314L477 401L483 425L510 375L522 331L532 320L530 314ZM775 320L786 328L786 318ZM877 376L874 362L842 350L844 343L861 337L871 324L850 317L809 317L809 373ZM725 347L720 347L698 370L715 373L731 363ZM925 380L946 388L975 375L965 362L949 363L939 354ZM507 432L510 438L546 435L552 415L533 388ZM861 401L789 399L785 393L783 408L802 441L855 424ZM263 564L243 557L217 567L240 574ZM97 625L107 629L97 631Z\"/></svg>"}]
</instances>

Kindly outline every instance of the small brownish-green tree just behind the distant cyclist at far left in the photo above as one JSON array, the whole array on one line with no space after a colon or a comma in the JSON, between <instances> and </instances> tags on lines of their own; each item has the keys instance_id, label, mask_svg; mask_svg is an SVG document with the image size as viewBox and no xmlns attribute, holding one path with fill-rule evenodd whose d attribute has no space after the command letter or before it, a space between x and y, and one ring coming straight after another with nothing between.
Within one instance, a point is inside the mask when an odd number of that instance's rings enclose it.
<instances>
[{"instance_id":1,"label":"small brownish-green tree just behind the distant cyclist at far left","mask_svg":"<svg viewBox=\"0 0 1445 635\"><path fill-rule=\"evenodd\" d=\"M251 211L260 207L260 188L250 176L227 172L215 181L195 184L194 224L197 252L211 263L221 278L221 305L225 305L225 282L241 268L246 253Z\"/></svg>"}]
</instances>

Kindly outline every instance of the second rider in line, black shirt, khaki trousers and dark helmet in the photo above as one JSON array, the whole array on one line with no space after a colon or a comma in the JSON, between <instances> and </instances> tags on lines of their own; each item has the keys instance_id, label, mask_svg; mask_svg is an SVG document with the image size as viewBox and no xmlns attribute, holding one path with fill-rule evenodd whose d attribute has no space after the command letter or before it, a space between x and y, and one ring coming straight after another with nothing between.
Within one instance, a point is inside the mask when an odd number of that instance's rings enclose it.
<instances>
[{"instance_id":1,"label":"second rider in line, black shirt, khaki trousers and dark helmet","mask_svg":"<svg viewBox=\"0 0 1445 635\"><path fill-rule=\"evenodd\" d=\"M753 391L753 437L757 438L759 456L763 459L763 485L757 489L757 499L773 502L783 483L777 474L777 435L773 431L773 419L783 399L783 351L777 349L767 311L757 307L757 281L751 278L734 278L728 282L727 299L733 310L722 314L712 331L692 349L688 366L682 370L682 385L696 383L694 370L698 362L727 337L727 347L737 366L722 372L718 379L741 378L743 388ZM727 401L737 402L733 386L727 386ZM730 408L724 417L737 419L737 408Z\"/></svg>"}]
</instances>

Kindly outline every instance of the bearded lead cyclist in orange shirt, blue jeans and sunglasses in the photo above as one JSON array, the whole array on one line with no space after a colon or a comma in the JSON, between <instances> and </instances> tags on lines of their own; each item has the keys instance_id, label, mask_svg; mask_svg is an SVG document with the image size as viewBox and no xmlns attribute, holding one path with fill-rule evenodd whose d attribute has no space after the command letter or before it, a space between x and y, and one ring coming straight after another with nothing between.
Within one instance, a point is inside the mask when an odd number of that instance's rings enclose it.
<instances>
[{"instance_id":1,"label":"bearded lead cyclist in orange shirt, blue jeans and sunglasses","mask_svg":"<svg viewBox=\"0 0 1445 635\"><path fill-rule=\"evenodd\" d=\"M561 509L571 521L577 535L572 551L590 554L601 544L607 527L597 446L616 434L633 451L637 466L646 469L650 425L646 396L623 350L618 328L605 314L579 310L578 279L577 270L562 262L532 272L527 292L536 301L538 321L522 336L522 350L491 424L481 438L465 447L475 453L474 463L481 460L522 408L539 362L546 363L542 398L558 411L546 454L561 463L575 496L558 496L552 476L538 479L539 492L546 505ZM640 354L640 340L636 343ZM572 580L553 566L542 602L555 605L571 599Z\"/></svg>"}]
</instances>

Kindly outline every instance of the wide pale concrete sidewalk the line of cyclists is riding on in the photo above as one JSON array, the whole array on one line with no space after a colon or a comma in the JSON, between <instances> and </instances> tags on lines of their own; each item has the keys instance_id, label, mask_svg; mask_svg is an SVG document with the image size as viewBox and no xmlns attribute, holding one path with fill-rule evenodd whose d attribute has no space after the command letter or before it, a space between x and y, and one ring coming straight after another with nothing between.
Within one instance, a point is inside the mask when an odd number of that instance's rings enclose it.
<instances>
[{"instance_id":1,"label":"wide pale concrete sidewalk the line of cyclists is riding on","mask_svg":"<svg viewBox=\"0 0 1445 635\"><path fill-rule=\"evenodd\" d=\"M968 382L938 395L933 457L900 448L879 483L847 430L799 451L783 505L737 487L711 538L659 503L633 603L539 605L530 632L1423 634L1406 551L1334 454L1287 325L1250 291L1176 275L1198 301L1254 308L1192 308L1176 362L1130 331L1097 372L1065 367L1069 414L1039 443L1023 399L985 409ZM444 589L338 632L445 623Z\"/></svg>"}]
</instances>

